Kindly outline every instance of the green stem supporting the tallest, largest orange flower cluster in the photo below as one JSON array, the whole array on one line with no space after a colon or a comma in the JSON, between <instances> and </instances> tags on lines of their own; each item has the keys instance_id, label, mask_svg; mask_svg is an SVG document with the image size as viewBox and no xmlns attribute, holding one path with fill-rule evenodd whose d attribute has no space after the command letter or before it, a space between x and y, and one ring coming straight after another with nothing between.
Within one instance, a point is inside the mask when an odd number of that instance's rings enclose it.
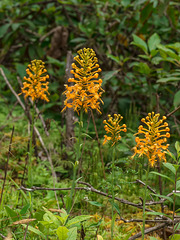
<instances>
[{"instance_id":1,"label":"green stem supporting the tallest, largest orange flower cluster","mask_svg":"<svg viewBox=\"0 0 180 240\"><path fill-rule=\"evenodd\" d=\"M80 121L79 121L79 136L77 141L77 152L76 152L76 162L73 167L73 181L71 186L70 192L70 199L71 199L71 209L73 206L73 199L74 199L74 189L76 186L76 175L77 175L77 168L78 168L78 161L81 157L81 133L82 133L82 125L83 125L83 109L80 111Z\"/></svg>"}]
</instances>

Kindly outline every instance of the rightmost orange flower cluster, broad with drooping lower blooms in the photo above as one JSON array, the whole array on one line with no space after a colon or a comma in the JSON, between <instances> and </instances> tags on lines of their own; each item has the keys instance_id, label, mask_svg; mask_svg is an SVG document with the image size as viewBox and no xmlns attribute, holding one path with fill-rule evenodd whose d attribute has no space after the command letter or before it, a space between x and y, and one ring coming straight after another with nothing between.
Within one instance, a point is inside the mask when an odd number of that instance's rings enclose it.
<instances>
[{"instance_id":1,"label":"rightmost orange flower cluster, broad with drooping lower blooms","mask_svg":"<svg viewBox=\"0 0 180 240\"><path fill-rule=\"evenodd\" d=\"M146 118L142 118L141 121L147 125L147 128L142 125L139 126L137 134L144 134L144 138L136 137L137 143L134 147L134 157L136 154L139 156L146 155L151 166L154 166L157 158L166 161L165 153L168 151L169 144L163 145L167 142L167 138L170 137L170 129L168 123L164 122L166 117L163 116L159 120L160 114L148 113Z\"/></svg>"}]
</instances>

